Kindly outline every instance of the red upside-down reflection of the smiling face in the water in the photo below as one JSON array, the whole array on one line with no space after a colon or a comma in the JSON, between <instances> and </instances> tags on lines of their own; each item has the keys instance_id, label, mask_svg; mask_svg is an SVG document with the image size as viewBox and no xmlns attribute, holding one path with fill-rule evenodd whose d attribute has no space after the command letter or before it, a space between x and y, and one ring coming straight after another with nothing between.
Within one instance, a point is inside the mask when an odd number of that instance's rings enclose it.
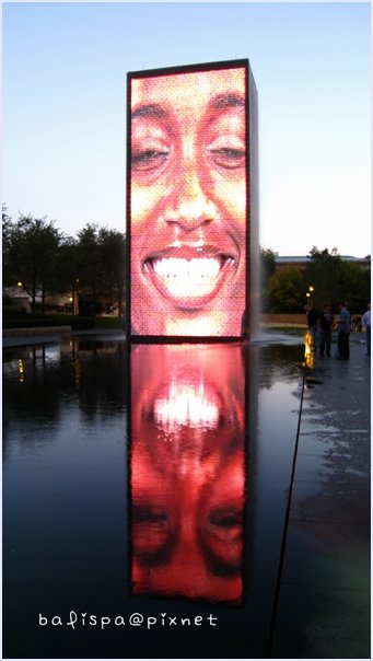
<instances>
[{"instance_id":1,"label":"red upside-down reflection of the smiling face in the water","mask_svg":"<svg viewBox=\"0 0 373 661\"><path fill-rule=\"evenodd\" d=\"M143 382L141 392L139 382L132 391L133 591L240 603L244 509L240 355L231 348L233 364L222 368L217 350L206 349L201 364L179 347L138 349L148 353L148 374L156 376L153 383Z\"/></svg>"}]
</instances>

